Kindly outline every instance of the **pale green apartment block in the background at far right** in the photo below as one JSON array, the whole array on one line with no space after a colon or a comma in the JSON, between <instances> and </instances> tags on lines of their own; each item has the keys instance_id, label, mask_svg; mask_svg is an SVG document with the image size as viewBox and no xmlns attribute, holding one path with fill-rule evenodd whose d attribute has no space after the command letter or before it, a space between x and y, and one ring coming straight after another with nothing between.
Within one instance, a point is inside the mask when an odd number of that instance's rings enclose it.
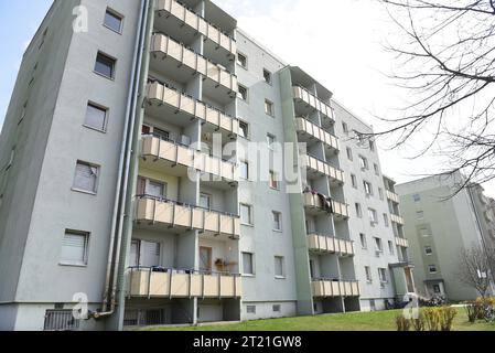
<instances>
[{"instance_id":1,"label":"pale green apartment block in the background at far right","mask_svg":"<svg viewBox=\"0 0 495 353\"><path fill-rule=\"evenodd\" d=\"M478 296L460 280L461 254L472 247L493 247L493 202L477 184L456 193L464 182L465 178L455 173L397 185L406 222L403 234L421 296L449 300Z\"/></svg>"}]
</instances>

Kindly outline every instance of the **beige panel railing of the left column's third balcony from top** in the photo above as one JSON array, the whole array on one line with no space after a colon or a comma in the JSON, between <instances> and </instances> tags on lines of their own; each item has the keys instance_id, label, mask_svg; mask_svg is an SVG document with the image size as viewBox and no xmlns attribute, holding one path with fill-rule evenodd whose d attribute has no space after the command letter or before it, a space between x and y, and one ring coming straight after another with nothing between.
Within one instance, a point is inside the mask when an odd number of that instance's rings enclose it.
<instances>
[{"instance_id":1,"label":"beige panel railing of the left column's third balcony from top","mask_svg":"<svg viewBox=\"0 0 495 353\"><path fill-rule=\"evenodd\" d=\"M159 104L165 104L177 111L212 124L225 131L239 133L239 120L208 106L206 103L183 95L165 84L159 82L149 84L147 98L150 101L157 100Z\"/></svg>"}]
</instances>

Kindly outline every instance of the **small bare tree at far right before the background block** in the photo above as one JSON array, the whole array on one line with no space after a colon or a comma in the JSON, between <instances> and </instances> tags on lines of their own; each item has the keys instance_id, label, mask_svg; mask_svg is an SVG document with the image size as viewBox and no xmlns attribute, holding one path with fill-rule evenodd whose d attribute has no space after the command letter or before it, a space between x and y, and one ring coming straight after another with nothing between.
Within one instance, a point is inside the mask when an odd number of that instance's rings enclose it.
<instances>
[{"instance_id":1,"label":"small bare tree at far right before the background block","mask_svg":"<svg viewBox=\"0 0 495 353\"><path fill-rule=\"evenodd\" d=\"M481 246L462 250L459 271L461 282L486 297L491 288L493 258L494 254Z\"/></svg>"}]
</instances>

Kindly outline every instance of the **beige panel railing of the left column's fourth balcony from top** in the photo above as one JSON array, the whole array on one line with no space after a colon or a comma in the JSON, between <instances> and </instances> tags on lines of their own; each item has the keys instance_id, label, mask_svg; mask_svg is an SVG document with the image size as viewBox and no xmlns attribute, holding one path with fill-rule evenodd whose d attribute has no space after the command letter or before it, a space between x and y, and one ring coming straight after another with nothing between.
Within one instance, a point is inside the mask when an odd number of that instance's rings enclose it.
<instances>
[{"instance_id":1,"label":"beige panel railing of the left column's fourth balcony from top","mask_svg":"<svg viewBox=\"0 0 495 353\"><path fill-rule=\"evenodd\" d=\"M239 179L237 164L152 135L142 137L141 154L143 158L166 160L173 165L193 168L228 181L238 181Z\"/></svg>"}]
</instances>

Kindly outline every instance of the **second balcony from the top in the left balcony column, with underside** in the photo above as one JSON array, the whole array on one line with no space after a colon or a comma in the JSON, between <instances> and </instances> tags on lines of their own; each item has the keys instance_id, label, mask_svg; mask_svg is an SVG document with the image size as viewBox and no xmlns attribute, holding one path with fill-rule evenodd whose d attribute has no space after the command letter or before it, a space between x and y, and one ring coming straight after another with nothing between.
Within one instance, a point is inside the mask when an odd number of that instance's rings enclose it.
<instances>
[{"instance_id":1,"label":"second balcony from the top in the left balcony column, with underside","mask_svg":"<svg viewBox=\"0 0 495 353\"><path fill-rule=\"evenodd\" d=\"M174 79L187 83L193 75L201 74L204 89L223 104L237 95L237 76L225 67L196 54L186 46L163 34L154 34L151 41L151 66Z\"/></svg>"}]
</instances>

